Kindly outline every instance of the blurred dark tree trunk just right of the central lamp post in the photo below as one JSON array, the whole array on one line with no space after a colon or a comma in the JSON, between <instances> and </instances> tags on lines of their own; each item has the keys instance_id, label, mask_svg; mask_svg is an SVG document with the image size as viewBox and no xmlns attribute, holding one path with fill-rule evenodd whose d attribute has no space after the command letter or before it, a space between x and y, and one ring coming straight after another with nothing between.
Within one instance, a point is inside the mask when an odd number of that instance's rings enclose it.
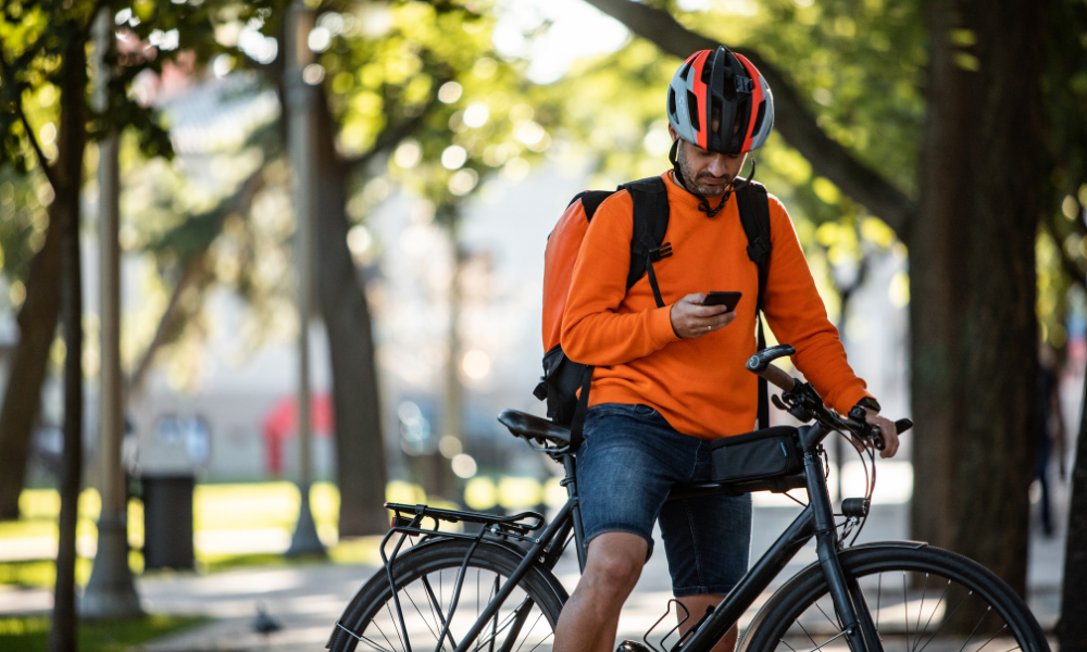
<instances>
[{"instance_id":1,"label":"blurred dark tree trunk just right of the central lamp post","mask_svg":"<svg viewBox=\"0 0 1087 652\"><path fill-rule=\"evenodd\" d=\"M317 294L332 355L339 536L358 537L388 530L383 506L385 443L370 306L347 244L349 170L336 153L334 122L324 93L316 104Z\"/></svg>"}]
</instances>

